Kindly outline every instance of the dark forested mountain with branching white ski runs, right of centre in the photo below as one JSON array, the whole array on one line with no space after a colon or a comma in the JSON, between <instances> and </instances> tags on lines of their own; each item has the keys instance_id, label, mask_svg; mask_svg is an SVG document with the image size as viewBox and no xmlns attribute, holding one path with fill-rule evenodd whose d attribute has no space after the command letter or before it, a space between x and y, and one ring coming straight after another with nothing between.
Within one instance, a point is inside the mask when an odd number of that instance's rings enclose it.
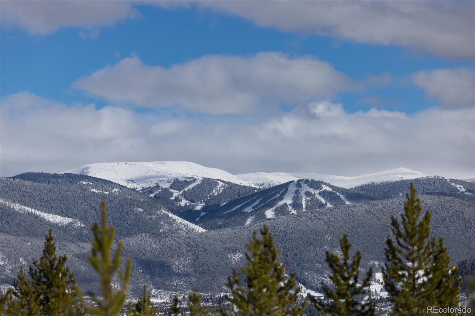
<instances>
[{"instance_id":1,"label":"dark forested mountain with branching white ski runs, right of centre","mask_svg":"<svg viewBox=\"0 0 475 316\"><path fill-rule=\"evenodd\" d=\"M420 187L420 193L470 195L474 192L472 183L455 179L448 180L442 177L420 177L412 180L369 183L354 188L342 188L314 179L298 179L245 195L218 207L206 207L205 205L195 223L212 230L248 225L266 218L336 205L369 203L404 197L411 181L414 181L416 187ZM193 218L188 217L187 219L192 220Z\"/></svg>"}]
</instances>

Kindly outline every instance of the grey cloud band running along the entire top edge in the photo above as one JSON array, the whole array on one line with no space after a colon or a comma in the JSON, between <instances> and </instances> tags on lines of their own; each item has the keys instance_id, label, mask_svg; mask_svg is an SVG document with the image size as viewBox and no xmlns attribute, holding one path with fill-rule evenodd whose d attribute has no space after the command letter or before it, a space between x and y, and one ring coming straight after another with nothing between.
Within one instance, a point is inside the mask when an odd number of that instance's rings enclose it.
<instances>
[{"instance_id":1,"label":"grey cloud band running along the entire top edge","mask_svg":"<svg viewBox=\"0 0 475 316\"><path fill-rule=\"evenodd\" d=\"M213 9L257 26L474 59L474 1L1 1L2 23L50 34L131 20L135 6Z\"/></svg>"}]
</instances>

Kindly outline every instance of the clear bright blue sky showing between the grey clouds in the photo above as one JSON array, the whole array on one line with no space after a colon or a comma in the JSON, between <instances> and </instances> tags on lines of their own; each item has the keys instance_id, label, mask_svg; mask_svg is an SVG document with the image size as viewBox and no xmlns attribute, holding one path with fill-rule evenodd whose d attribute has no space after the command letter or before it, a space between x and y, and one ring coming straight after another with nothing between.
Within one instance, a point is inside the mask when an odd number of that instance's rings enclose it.
<instances>
[{"instance_id":1,"label":"clear bright blue sky showing between the grey clouds","mask_svg":"<svg viewBox=\"0 0 475 316\"><path fill-rule=\"evenodd\" d=\"M78 36L80 28L64 28L48 36L1 28L1 97L28 90L62 102L90 102L87 95L71 89L71 83L123 57L139 56L147 65L170 67L205 55L246 56L270 51L315 56L355 80L388 73L396 78L394 84L345 93L339 100L353 112L372 107L364 97L378 96L392 101L385 106L388 110L414 112L434 102L425 98L422 89L400 81L423 69L473 65L471 60L450 60L394 45L259 28L244 19L196 7L167 10L139 6L138 10L141 18L101 28L93 39Z\"/></svg>"}]
</instances>

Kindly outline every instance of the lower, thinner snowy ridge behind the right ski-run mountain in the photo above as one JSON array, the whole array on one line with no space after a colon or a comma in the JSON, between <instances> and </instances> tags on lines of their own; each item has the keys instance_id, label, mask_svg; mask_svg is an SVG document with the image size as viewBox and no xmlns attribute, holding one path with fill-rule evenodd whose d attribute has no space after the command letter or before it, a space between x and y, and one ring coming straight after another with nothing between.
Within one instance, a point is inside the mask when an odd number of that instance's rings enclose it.
<instances>
[{"instance_id":1,"label":"lower, thinner snowy ridge behind the right ski-run mountain","mask_svg":"<svg viewBox=\"0 0 475 316\"><path fill-rule=\"evenodd\" d=\"M245 181L255 185L275 186L288 181L297 179L314 179L331 183L335 186L350 188L360 186L371 182L397 181L401 179L414 179L419 177L427 177L428 175L410 170L407 168L396 168L356 177L332 176L318 173L285 173L285 172L256 172L236 175Z\"/></svg>"}]
</instances>

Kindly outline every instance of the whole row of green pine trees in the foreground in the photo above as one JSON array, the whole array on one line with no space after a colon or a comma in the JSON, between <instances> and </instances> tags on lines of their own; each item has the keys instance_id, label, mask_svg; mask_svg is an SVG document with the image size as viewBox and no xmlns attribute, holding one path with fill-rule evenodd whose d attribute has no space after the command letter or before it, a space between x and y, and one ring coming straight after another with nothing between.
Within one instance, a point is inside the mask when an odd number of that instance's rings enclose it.
<instances>
[{"instance_id":1,"label":"whole row of green pine trees in the foreground","mask_svg":"<svg viewBox=\"0 0 475 316\"><path fill-rule=\"evenodd\" d=\"M411 183L406 196L404 212L397 219L391 216L391 236L386 238L386 262L381 270L384 287L391 302L392 315L427 315L428 307L449 307L445 315L475 313L475 287L469 308L460 306L458 268L450 263L443 238L430 238L431 213L422 212L420 200ZM135 303L126 303L127 288L132 269L128 258L121 266L122 242L117 242L115 253L114 227L107 224L105 202L101 203L101 224L92 227L93 240L88 260L100 283L100 296L88 292L92 302L76 284L74 274L66 266L66 256L56 255L52 231L45 236L44 250L39 260L33 260L28 277L20 268L12 287L1 295L0 310L5 315L121 315L152 316L157 309L143 287L143 296ZM324 297L308 295L300 299L296 272L287 275L279 261L273 235L264 225L254 231L247 243L247 266L232 268L226 287L228 295L217 307L202 303L202 297L193 289L186 306L178 297L173 298L169 315L304 315L311 304L321 315L375 315L375 302L369 289L372 270L360 276L360 251L350 255L351 243L344 234L340 240L341 254L326 251L331 285L322 282ZM118 278L117 278L118 277ZM117 286L113 280L119 280ZM474 280L475 282L475 280ZM470 311L469 311L470 310Z\"/></svg>"}]
</instances>

